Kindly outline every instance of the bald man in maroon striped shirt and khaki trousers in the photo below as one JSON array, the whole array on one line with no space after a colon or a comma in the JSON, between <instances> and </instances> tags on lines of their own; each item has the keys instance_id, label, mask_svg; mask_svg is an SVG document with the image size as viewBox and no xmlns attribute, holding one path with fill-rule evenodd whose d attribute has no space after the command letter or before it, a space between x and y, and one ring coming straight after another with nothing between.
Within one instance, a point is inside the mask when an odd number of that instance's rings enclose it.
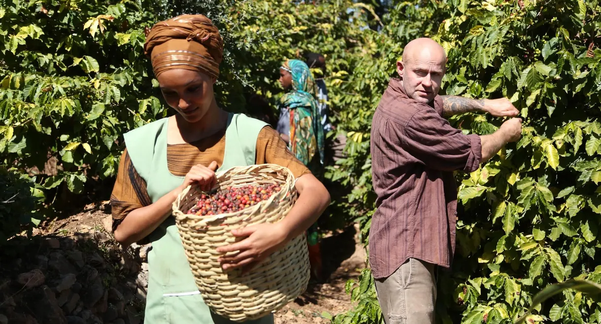
<instances>
[{"instance_id":1,"label":"bald man in maroon striped shirt and khaki trousers","mask_svg":"<svg viewBox=\"0 0 601 324\"><path fill-rule=\"evenodd\" d=\"M465 135L445 117L486 112L513 117L507 98L474 100L438 95L444 49L429 38L411 41L397 62L371 126L376 212L370 265L386 324L434 323L436 267L450 268L455 250L454 171L472 172L506 143L519 139L521 119L490 135Z\"/></svg>"}]
</instances>

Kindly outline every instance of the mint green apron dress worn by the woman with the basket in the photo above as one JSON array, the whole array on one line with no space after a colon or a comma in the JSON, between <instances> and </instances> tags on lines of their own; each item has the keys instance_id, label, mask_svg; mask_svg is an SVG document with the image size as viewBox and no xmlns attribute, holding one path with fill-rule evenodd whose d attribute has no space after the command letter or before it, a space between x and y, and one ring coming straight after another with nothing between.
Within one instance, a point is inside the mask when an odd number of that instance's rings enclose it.
<instances>
[{"instance_id":1,"label":"mint green apron dress worn by the woman with the basket","mask_svg":"<svg viewBox=\"0 0 601 324\"><path fill-rule=\"evenodd\" d=\"M127 152L136 172L146 181L152 202L183 183L167 167L168 118L151 122L124 134ZM230 114L225 131L224 161L219 170L255 163L257 136L267 124L245 115ZM152 232L148 251L148 293L145 324L234 323L210 312L194 282L173 217ZM273 315L245 323L272 324Z\"/></svg>"}]
</instances>

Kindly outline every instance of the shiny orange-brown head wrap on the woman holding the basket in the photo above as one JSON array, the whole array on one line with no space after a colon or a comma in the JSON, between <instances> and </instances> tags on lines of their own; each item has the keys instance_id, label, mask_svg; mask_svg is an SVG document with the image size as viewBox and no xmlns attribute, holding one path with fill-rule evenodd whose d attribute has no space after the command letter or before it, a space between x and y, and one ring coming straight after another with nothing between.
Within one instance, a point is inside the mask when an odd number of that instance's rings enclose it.
<instances>
[{"instance_id":1,"label":"shiny orange-brown head wrap on the woman holding the basket","mask_svg":"<svg viewBox=\"0 0 601 324\"><path fill-rule=\"evenodd\" d=\"M223 51L218 29L201 14L183 14L156 23L144 44L144 54L150 56L155 76L172 68L185 68L218 77Z\"/></svg>"}]
</instances>

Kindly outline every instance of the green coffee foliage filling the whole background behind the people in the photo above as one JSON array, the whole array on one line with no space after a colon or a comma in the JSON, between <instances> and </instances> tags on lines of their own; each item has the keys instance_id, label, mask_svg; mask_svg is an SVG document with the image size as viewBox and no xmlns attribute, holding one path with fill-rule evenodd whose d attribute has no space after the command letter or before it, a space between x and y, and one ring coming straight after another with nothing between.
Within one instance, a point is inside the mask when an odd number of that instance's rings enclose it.
<instances>
[{"instance_id":1,"label":"green coffee foliage filling the whole background behind the people","mask_svg":"<svg viewBox=\"0 0 601 324\"><path fill-rule=\"evenodd\" d=\"M228 110L275 113L280 62L326 55L332 121L347 137L347 157L326 176L350 188L330 218L358 221L367 241L371 117L404 44L432 37L448 54L441 94L507 97L525 119L520 142L457 174L463 211L453 269L439 280L439 322L511 323L548 284L601 280L596 0L379 1L377 11L352 0L0 3L1 163L36 175L38 194L85 192L115 175L121 134L170 113L142 55L144 28L205 13L225 38L217 93ZM487 134L502 120L451 122ZM358 304L334 322L379 323L368 269L347 289ZM601 305L566 290L529 320L599 323Z\"/></svg>"}]
</instances>

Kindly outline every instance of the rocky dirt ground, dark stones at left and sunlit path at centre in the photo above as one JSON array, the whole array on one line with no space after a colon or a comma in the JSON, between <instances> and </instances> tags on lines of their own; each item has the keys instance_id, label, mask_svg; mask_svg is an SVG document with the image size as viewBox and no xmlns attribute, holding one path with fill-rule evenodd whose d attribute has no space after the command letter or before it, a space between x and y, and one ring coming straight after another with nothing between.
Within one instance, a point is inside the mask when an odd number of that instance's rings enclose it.
<instances>
[{"instance_id":1,"label":"rocky dirt ground, dark stones at left and sunlit path at centre","mask_svg":"<svg viewBox=\"0 0 601 324\"><path fill-rule=\"evenodd\" d=\"M0 251L0 324L139 324L148 286L148 245L123 250L110 234L106 202L51 221L31 239L13 238ZM356 230L322 242L325 283L311 283L275 314L276 324L328 323L349 310L347 280L359 275L365 254Z\"/></svg>"}]
</instances>

